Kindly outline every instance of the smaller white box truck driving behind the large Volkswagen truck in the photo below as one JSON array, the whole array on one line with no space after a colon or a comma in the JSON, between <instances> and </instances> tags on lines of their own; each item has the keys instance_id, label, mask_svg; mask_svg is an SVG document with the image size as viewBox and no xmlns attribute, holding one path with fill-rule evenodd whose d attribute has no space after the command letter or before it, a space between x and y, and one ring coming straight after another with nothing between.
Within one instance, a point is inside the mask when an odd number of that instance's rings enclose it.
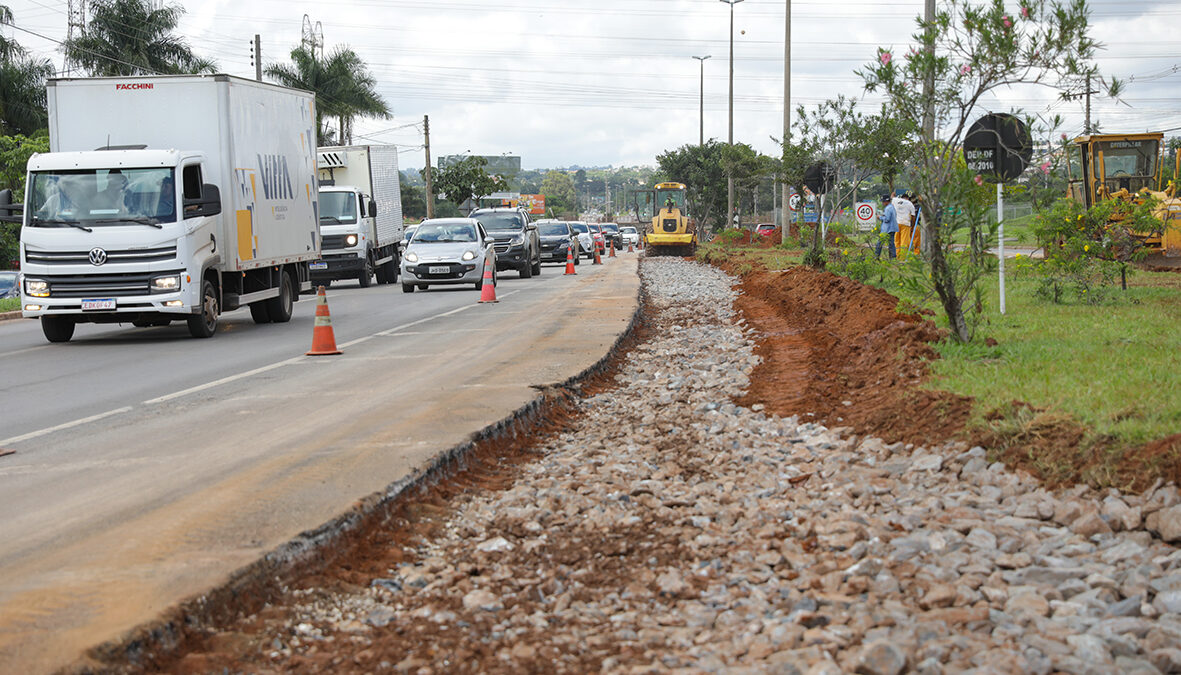
<instances>
[{"instance_id":1,"label":"smaller white box truck driving behind the large Volkswagen truck","mask_svg":"<svg viewBox=\"0 0 1181 675\"><path fill-rule=\"evenodd\" d=\"M320 245L313 283L355 278L363 288L398 281L402 182L393 145L321 148Z\"/></svg>"}]
</instances>

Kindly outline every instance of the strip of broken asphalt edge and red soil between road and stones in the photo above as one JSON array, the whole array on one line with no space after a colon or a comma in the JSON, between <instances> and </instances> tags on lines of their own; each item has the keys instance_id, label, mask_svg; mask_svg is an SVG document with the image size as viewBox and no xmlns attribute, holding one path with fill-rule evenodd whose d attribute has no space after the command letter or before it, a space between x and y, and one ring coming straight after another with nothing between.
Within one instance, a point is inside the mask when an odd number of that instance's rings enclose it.
<instances>
[{"instance_id":1,"label":"strip of broken asphalt edge and red soil between road and stones","mask_svg":"<svg viewBox=\"0 0 1181 675\"><path fill-rule=\"evenodd\" d=\"M640 258L637 258L639 274ZM416 489L441 481L462 468L464 460L481 446L500 440L526 435L547 422L561 401L581 393L583 385L608 372L620 353L637 335L642 323L647 295L642 280L635 291L635 309L627 326L602 355L582 372L553 385L535 385L539 394L508 417L492 422L456 446L435 457L425 470L391 483L385 489L360 498L350 510L324 523L314 530L301 532L280 544L260 559L233 572L228 581L203 594L181 601L164 610L161 616L136 627L122 637L87 649L80 661L66 667L61 673L90 674L96 670L124 671L129 666L150 669L151 664L167 660L190 638L201 638L207 625L239 616L243 611L234 604L243 597L256 603L268 602L285 591L287 583L301 574L324 568L337 559L337 544L347 544L350 537L359 535L370 525L379 525L404 497Z\"/></svg>"}]
</instances>

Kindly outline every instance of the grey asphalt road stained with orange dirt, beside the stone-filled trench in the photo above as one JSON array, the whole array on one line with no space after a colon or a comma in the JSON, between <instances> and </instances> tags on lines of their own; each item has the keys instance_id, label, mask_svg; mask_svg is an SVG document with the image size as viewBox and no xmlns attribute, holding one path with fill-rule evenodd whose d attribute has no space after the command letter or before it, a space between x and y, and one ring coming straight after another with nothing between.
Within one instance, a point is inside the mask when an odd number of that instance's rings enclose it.
<instances>
[{"instance_id":1,"label":"grey asphalt road stained with orange dirt, beside the stone-filled trench","mask_svg":"<svg viewBox=\"0 0 1181 675\"><path fill-rule=\"evenodd\" d=\"M634 255L465 289L328 291L340 356L223 316L210 340L0 322L0 671L48 671L426 466L602 358L635 309Z\"/></svg>"}]
</instances>

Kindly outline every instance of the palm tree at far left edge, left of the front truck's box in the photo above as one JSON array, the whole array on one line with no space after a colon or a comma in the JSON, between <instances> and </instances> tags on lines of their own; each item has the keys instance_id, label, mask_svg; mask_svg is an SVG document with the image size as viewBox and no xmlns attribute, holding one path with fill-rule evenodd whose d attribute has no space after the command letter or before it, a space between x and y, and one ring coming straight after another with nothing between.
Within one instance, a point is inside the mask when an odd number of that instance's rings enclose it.
<instances>
[{"instance_id":1,"label":"palm tree at far left edge, left of the front truck's box","mask_svg":"<svg viewBox=\"0 0 1181 675\"><path fill-rule=\"evenodd\" d=\"M0 5L0 24L11 22L12 11ZM32 136L45 129L45 80L53 72L48 59L31 57L0 34L0 133Z\"/></svg>"}]
</instances>

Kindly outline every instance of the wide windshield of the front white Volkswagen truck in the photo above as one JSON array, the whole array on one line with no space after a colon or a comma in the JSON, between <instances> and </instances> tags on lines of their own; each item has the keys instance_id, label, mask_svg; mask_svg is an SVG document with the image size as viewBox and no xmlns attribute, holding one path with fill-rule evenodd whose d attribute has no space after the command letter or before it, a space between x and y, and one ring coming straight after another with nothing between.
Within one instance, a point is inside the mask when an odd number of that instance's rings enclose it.
<instances>
[{"instance_id":1,"label":"wide windshield of the front white Volkswagen truck","mask_svg":"<svg viewBox=\"0 0 1181 675\"><path fill-rule=\"evenodd\" d=\"M32 227L176 222L172 169L78 169L32 176Z\"/></svg>"}]
</instances>

